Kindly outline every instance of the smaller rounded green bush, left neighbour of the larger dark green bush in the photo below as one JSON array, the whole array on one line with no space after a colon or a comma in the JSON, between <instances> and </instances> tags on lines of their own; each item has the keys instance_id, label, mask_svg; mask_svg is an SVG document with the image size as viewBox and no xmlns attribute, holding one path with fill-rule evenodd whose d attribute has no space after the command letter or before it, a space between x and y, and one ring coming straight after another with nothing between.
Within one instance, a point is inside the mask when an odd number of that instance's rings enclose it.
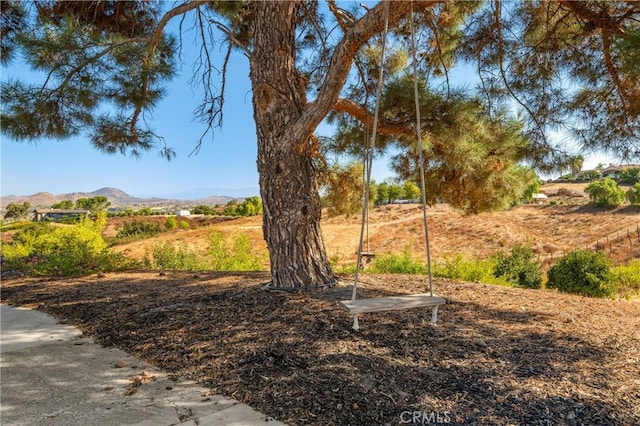
<instances>
[{"instance_id":1,"label":"smaller rounded green bush, left neighbour of the larger dark green bush","mask_svg":"<svg viewBox=\"0 0 640 426\"><path fill-rule=\"evenodd\" d=\"M540 288L542 269L536 254L529 247L515 246L511 249L511 255L498 253L496 259L498 264L493 271L496 278L504 277L516 287Z\"/></svg>"}]
</instances>

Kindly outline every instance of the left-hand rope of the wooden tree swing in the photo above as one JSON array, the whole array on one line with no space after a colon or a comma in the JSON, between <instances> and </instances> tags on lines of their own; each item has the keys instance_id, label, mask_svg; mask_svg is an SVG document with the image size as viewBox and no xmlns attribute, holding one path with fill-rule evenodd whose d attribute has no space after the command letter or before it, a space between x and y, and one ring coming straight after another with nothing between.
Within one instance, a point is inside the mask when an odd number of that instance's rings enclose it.
<instances>
[{"instance_id":1,"label":"left-hand rope of the wooden tree swing","mask_svg":"<svg viewBox=\"0 0 640 426\"><path fill-rule=\"evenodd\" d=\"M356 300L356 294L358 290L358 278L360 276L360 265L362 264L362 245L364 241L365 221L368 221L369 216L369 187L371 185L371 165L373 164L373 151L375 148L376 137L378 133L378 117L380 113L380 97L382 93L382 83L384 78L384 59L385 49L387 44L387 33L389 31L389 3L385 4L385 20L384 20L384 32L382 37L382 52L380 53L380 73L378 75L378 87L376 88L376 107L373 114L373 129L371 132L371 140L369 148L365 155L365 168L366 168L366 182L364 197L362 199L362 220L360 221L360 241L358 242L358 258L356 261L356 273L353 282L353 291L351 293L351 300ZM365 123L365 127L368 123ZM358 315L353 316L353 329L358 329Z\"/></svg>"}]
</instances>

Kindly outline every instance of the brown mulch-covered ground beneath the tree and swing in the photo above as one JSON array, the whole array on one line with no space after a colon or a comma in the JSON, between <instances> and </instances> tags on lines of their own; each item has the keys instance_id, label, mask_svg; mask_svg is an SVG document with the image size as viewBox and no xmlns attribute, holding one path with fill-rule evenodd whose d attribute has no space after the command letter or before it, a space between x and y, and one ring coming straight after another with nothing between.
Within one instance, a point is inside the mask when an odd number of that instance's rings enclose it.
<instances>
[{"instance_id":1,"label":"brown mulch-covered ground beneath the tree and swing","mask_svg":"<svg viewBox=\"0 0 640 426\"><path fill-rule=\"evenodd\" d=\"M290 425L640 425L640 304L435 279L430 309L360 316L266 273L9 279L37 308ZM359 297L425 291L362 276Z\"/></svg>"}]
</instances>

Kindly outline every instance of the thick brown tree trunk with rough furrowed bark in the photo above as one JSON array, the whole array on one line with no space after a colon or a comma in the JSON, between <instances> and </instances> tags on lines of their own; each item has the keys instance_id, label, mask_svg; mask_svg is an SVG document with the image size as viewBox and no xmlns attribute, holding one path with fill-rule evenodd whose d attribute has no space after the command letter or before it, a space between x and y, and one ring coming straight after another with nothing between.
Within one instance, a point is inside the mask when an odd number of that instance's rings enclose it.
<instances>
[{"instance_id":1,"label":"thick brown tree trunk with rough furrowed bark","mask_svg":"<svg viewBox=\"0 0 640 426\"><path fill-rule=\"evenodd\" d=\"M295 68L299 2L255 3L251 83L258 138L263 232L274 287L335 281L320 230L320 197L311 143L301 127L306 104Z\"/></svg>"}]
</instances>

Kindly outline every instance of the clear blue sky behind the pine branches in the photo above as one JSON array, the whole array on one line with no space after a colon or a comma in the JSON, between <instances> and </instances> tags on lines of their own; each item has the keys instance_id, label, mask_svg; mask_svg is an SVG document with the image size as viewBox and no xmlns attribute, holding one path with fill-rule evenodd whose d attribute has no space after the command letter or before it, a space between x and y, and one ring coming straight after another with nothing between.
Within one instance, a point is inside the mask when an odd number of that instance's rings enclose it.
<instances>
[{"instance_id":1,"label":"clear blue sky behind the pine branches","mask_svg":"<svg viewBox=\"0 0 640 426\"><path fill-rule=\"evenodd\" d=\"M195 49L189 45L188 38L185 40L186 64L181 75L168 86L164 100L152 117L153 129L175 149L175 159L167 161L153 149L140 158L107 155L96 151L84 137L25 143L2 135L1 195L90 192L102 187L119 188L141 197L257 195L256 134L248 60L240 53L232 56L223 128L215 129L213 140L207 138L199 154L189 156L204 126L192 117L200 93L187 84ZM10 67L2 68L1 80L26 73L25 66L16 58ZM469 77L464 73L454 74L453 82ZM329 136L331 129L321 126L318 133ZM590 157L585 169L610 161L613 160L602 156ZM376 161L374 179L381 181L390 174L384 159Z\"/></svg>"}]
</instances>

